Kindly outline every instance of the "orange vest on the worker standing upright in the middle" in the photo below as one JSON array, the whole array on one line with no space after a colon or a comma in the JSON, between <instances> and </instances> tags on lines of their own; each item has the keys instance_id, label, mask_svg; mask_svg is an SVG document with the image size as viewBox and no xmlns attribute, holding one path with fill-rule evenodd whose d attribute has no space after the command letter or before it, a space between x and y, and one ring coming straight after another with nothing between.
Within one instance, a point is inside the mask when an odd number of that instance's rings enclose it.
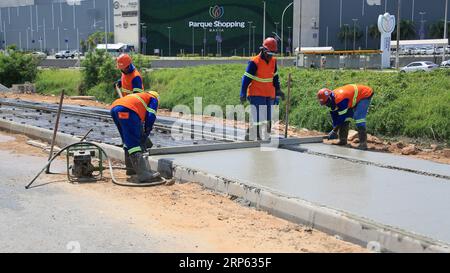
<instances>
[{"instance_id":1,"label":"orange vest on the worker standing upright in the middle","mask_svg":"<svg viewBox=\"0 0 450 273\"><path fill-rule=\"evenodd\" d=\"M277 60L272 57L267 63L261 58L261 54L252 58L256 64L256 75L245 72L245 76L252 79L248 86L247 96L261 96L275 98L275 87L273 86L273 78L275 77L275 67Z\"/></svg>"}]
</instances>

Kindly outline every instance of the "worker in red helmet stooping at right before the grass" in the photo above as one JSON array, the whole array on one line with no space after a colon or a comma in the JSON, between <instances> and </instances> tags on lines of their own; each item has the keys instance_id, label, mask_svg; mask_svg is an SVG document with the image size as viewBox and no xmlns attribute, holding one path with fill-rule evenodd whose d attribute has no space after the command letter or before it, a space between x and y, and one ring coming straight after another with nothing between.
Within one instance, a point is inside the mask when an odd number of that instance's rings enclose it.
<instances>
[{"instance_id":1,"label":"worker in red helmet stooping at right before the grass","mask_svg":"<svg viewBox=\"0 0 450 273\"><path fill-rule=\"evenodd\" d=\"M320 104L331 108L333 130L328 134L328 139L339 138L337 145L347 145L350 119L353 118L358 130L358 148L367 150L366 117L373 94L369 86L357 84L348 84L333 91L327 88L319 90L317 98Z\"/></svg>"}]
</instances>

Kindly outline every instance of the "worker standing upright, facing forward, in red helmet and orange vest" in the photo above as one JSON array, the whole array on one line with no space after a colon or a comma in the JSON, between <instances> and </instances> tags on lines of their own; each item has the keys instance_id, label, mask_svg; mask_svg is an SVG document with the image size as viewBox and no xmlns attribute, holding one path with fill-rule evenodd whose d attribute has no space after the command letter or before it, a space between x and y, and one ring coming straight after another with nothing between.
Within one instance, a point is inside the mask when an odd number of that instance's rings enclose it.
<instances>
[{"instance_id":1,"label":"worker standing upright, facing forward, in red helmet and orange vest","mask_svg":"<svg viewBox=\"0 0 450 273\"><path fill-rule=\"evenodd\" d=\"M277 41L267 38L260 47L260 53L253 57L242 77L240 99L241 103L249 101L252 105L252 132L256 129L258 140L265 138L264 128L270 136L272 127L272 107L276 97L284 100L278 77L277 60L273 56L278 50ZM250 128L247 130L246 139L250 139Z\"/></svg>"}]
</instances>

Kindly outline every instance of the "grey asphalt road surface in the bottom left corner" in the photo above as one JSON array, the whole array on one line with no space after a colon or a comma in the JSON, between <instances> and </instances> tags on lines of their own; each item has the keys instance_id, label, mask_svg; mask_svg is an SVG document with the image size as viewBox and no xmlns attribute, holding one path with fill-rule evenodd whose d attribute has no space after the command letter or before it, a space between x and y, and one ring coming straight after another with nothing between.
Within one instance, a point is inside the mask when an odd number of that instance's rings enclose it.
<instances>
[{"instance_id":1,"label":"grey asphalt road surface in the bottom left corner","mask_svg":"<svg viewBox=\"0 0 450 273\"><path fill-rule=\"evenodd\" d=\"M0 158L0 252L186 251L188 240L180 245L170 234L135 226L131 217L112 219L104 213L111 211L108 201L73 190L79 185L54 181L25 190L45 158L8 151L0 151Z\"/></svg>"}]
</instances>

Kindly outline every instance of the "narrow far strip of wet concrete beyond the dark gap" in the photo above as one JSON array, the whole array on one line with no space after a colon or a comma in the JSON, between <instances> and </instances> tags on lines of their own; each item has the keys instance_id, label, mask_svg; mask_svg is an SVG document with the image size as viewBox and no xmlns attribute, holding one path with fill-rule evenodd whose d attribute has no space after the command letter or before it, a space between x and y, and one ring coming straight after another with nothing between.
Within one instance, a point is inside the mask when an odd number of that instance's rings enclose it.
<instances>
[{"instance_id":1,"label":"narrow far strip of wet concrete beyond the dark gap","mask_svg":"<svg viewBox=\"0 0 450 273\"><path fill-rule=\"evenodd\" d=\"M428 160L415 159L406 156L393 155L388 153L360 151L335 145L302 144L301 148L316 153L324 153L333 156L341 156L355 160L365 160L376 164L389 165L397 168L417 170L421 172L434 173L443 176L450 176L450 165L436 163Z\"/></svg>"}]
</instances>

